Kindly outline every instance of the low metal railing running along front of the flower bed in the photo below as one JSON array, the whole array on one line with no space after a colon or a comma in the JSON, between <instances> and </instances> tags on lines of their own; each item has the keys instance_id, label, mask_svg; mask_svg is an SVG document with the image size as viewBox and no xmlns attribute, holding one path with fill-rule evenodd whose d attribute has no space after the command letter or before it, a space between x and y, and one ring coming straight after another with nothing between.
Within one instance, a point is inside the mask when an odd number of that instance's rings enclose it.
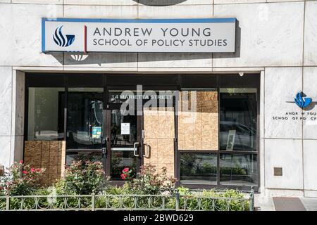
<instances>
[{"instance_id":1,"label":"low metal railing running along front of the flower bed","mask_svg":"<svg viewBox=\"0 0 317 225\"><path fill-rule=\"evenodd\" d=\"M243 198L203 195L21 195L0 196L0 211L172 210L253 211L254 191Z\"/></svg>"}]
</instances>

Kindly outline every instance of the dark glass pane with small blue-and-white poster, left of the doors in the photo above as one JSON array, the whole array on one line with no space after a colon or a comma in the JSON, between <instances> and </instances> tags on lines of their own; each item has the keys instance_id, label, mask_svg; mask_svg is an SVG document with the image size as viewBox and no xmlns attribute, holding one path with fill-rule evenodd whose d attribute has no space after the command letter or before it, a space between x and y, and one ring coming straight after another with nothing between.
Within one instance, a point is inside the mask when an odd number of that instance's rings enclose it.
<instances>
[{"instance_id":1,"label":"dark glass pane with small blue-and-white poster, left of the doors","mask_svg":"<svg viewBox=\"0 0 317 225\"><path fill-rule=\"evenodd\" d=\"M104 89L68 88L66 163L91 160L106 163Z\"/></svg>"}]
</instances>

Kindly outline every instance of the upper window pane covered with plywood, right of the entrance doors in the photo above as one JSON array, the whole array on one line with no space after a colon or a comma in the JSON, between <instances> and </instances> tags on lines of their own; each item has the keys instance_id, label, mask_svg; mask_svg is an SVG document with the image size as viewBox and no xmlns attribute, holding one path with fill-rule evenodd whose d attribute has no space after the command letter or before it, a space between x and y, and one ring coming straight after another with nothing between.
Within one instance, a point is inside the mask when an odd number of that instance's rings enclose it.
<instances>
[{"instance_id":1,"label":"upper window pane covered with plywood, right of the entrance doors","mask_svg":"<svg viewBox=\"0 0 317 225\"><path fill-rule=\"evenodd\" d=\"M181 91L178 149L218 150L218 92Z\"/></svg>"}]
</instances>

